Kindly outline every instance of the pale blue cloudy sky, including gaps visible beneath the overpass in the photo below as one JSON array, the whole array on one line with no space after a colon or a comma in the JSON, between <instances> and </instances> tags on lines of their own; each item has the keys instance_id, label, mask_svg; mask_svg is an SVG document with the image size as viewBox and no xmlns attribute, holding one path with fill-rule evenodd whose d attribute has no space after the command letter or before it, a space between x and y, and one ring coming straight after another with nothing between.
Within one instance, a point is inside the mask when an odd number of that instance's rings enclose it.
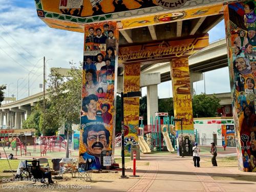
<instances>
[{"instance_id":1,"label":"pale blue cloudy sky, including gaps visible beneath the overpass","mask_svg":"<svg viewBox=\"0 0 256 192\"><path fill-rule=\"evenodd\" d=\"M209 38L211 42L224 37L222 21L209 32ZM70 68L69 61L79 63L83 34L49 28L37 17L34 1L0 0L0 84L7 84L6 96L8 92L10 97L17 96L18 79L18 99L29 95L28 84L30 95L41 91L44 56L49 59L47 74L51 67ZM205 84L207 94L229 92L228 69L205 73ZM204 92L204 81L194 83L194 89L198 94ZM172 97L172 82L159 84L158 95Z\"/></svg>"}]
</instances>

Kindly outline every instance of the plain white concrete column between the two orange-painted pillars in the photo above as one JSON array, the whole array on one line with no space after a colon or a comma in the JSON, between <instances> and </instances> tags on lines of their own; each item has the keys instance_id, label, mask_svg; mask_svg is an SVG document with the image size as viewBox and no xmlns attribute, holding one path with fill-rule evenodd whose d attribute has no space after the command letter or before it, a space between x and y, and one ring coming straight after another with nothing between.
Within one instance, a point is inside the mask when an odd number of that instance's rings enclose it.
<instances>
[{"instance_id":1,"label":"plain white concrete column between the two orange-painted pillars","mask_svg":"<svg viewBox=\"0 0 256 192\"><path fill-rule=\"evenodd\" d=\"M146 111L147 124L151 124L151 117L155 119L156 112L158 112L158 90L157 84L146 87Z\"/></svg>"}]
</instances>

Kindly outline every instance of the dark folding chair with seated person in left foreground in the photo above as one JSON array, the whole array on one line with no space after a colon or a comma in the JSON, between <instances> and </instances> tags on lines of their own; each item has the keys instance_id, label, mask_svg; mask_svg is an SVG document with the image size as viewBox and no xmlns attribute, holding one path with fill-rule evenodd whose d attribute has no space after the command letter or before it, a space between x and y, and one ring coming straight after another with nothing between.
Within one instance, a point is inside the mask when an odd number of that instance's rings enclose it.
<instances>
[{"instance_id":1,"label":"dark folding chair with seated person in left foreground","mask_svg":"<svg viewBox=\"0 0 256 192\"><path fill-rule=\"evenodd\" d=\"M34 179L34 183L30 183L27 185L33 185L36 183L36 181L40 181L41 183L43 183L43 185L47 185L45 184L45 176L44 173L40 170L40 165L39 165L39 161L25 161L26 163L26 169L27 172L29 173L29 178ZM30 163L30 164L29 164Z\"/></svg>"}]
</instances>

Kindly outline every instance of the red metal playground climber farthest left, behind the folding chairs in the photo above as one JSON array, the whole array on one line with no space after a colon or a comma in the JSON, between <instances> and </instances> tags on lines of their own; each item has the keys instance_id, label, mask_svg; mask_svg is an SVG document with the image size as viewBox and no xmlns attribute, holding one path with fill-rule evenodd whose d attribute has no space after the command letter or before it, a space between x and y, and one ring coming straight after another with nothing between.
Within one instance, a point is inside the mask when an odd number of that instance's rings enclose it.
<instances>
[{"instance_id":1,"label":"red metal playground climber farthest left, behind the folding chairs","mask_svg":"<svg viewBox=\"0 0 256 192\"><path fill-rule=\"evenodd\" d=\"M11 139L10 139L11 138ZM25 139L24 139L25 138ZM17 156L18 149L20 150L20 156L30 155L30 152L27 152L27 136L24 134L15 134L15 133L6 133L4 135L4 146L6 146L7 142L9 143L8 147L12 147L15 149L15 155Z\"/></svg>"}]
</instances>

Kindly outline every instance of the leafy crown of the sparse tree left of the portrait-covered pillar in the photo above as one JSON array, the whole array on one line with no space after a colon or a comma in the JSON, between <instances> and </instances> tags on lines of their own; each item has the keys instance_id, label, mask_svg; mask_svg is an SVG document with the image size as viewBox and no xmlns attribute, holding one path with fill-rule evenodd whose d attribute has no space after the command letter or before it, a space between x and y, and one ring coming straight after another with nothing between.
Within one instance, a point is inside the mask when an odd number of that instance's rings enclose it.
<instances>
[{"instance_id":1,"label":"leafy crown of the sparse tree left of the portrait-covered pillar","mask_svg":"<svg viewBox=\"0 0 256 192\"><path fill-rule=\"evenodd\" d=\"M48 85L49 97L46 99L46 109L40 105L40 130L45 129L55 134L59 127L65 124L71 133L71 124L80 123L82 70L70 62L71 70L68 77L52 71ZM81 66L81 65L80 65ZM68 124L68 126L66 126Z\"/></svg>"}]
</instances>

